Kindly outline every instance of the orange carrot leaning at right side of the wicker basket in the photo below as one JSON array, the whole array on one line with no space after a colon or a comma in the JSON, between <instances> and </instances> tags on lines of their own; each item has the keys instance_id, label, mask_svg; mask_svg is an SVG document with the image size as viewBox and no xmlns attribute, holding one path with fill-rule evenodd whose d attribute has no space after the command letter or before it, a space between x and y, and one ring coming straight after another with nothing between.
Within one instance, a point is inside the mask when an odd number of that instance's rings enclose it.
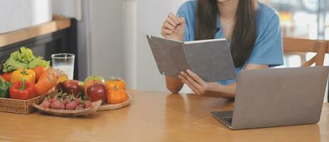
<instances>
[{"instance_id":1,"label":"orange carrot leaning at right side of the wicker basket","mask_svg":"<svg viewBox=\"0 0 329 142\"><path fill-rule=\"evenodd\" d=\"M43 72L38 82L36 82L36 92L38 95L46 94L51 88L55 87L57 81L57 74L55 69L48 67L48 69Z\"/></svg>"}]
</instances>

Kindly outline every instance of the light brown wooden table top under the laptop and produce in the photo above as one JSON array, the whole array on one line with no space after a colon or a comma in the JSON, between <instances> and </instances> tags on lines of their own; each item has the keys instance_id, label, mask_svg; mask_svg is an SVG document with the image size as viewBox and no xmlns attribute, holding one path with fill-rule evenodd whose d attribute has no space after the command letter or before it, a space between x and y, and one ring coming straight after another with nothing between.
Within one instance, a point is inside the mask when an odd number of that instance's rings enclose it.
<instances>
[{"instance_id":1,"label":"light brown wooden table top under the laptop and produce","mask_svg":"<svg viewBox=\"0 0 329 142\"><path fill-rule=\"evenodd\" d=\"M0 112L0 141L329 141L329 104L318 124L231 131L210 111L226 99L129 91L130 106L88 117Z\"/></svg>"}]
</instances>

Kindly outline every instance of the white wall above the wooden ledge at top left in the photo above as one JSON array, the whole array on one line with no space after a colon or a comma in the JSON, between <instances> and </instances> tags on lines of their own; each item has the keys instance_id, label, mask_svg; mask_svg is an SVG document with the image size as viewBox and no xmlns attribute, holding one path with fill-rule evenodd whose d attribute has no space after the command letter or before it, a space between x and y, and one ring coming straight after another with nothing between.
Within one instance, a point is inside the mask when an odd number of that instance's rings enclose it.
<instances>
[{"instance_id":1,"label":"white wall above the wooden ledge at top left","mask_svg":"<svg viewBox=\"0 0 329 142\"><path fill-rule=\"evenodd\" d=\"M0 0L0 33L51 21L50 0Z\"/></svg>"}]
</instances>

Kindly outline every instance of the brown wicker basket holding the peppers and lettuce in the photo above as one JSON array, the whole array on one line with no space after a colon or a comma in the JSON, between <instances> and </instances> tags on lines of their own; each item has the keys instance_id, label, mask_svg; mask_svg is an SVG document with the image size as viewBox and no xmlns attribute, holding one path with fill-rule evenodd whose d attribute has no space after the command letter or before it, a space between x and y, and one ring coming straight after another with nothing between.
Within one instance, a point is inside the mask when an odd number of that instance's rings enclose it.
<instances>
[{"instance_id":1,"label":"brown wicker basket holding the peppers and lettuce","mask_svg":"<svg viewBox=\"0 0 329 142\"><path fill-rule=\"evenodd\" d=\"M55 92L53 91L49 92L48 94L28 100L0 98L0 111L11 112L16 114L29 114L32 111L36 110L33 107L33 103L40 104L43 99L48 96L53 96L54 94Z\"/></svg>"}]
</instances>

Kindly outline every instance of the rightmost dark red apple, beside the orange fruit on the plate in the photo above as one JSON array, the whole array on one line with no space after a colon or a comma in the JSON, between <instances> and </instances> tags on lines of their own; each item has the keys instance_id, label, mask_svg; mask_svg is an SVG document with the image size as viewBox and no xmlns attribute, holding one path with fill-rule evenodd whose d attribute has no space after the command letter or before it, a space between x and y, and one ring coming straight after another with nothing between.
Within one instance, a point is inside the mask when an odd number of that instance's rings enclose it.
<instances>
[{"instance_id":1,"label":"rightmost dark red apple, beside the orange fruit on the plate","mask_svg":"<svg viewBox=\"0 0 329 142\"><path fill-rule=\"evenodd\" d=\"M102 100L102 104L106 103L108 98L105 84L102 82L93 82L93 84L90 84L85 95L91 102Z\"/></svg>"}]
</instances>

